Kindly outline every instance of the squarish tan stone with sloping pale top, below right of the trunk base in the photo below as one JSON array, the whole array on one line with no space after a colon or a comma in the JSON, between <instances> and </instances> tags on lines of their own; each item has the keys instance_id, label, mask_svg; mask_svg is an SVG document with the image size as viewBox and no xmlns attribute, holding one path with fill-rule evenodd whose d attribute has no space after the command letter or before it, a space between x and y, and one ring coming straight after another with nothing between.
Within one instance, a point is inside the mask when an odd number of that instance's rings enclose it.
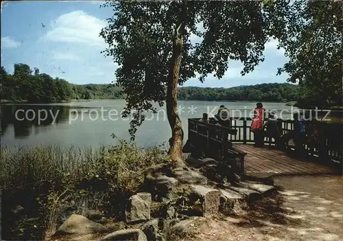
<instances>
[{"instance_id":1,"label":"squarish tan stone with sloping pale top, below right of the trunk base","mask_svg":"<svg viewBox=\"0 0 343 241\"><path fill-rule=\"evenodd\" d=\"M200 199L202 210L199 211L202 213L201 216L217 214L222 193L219 190L202 185L191 185L191 188L193 193Z\"/></svg>"}]
</instances>

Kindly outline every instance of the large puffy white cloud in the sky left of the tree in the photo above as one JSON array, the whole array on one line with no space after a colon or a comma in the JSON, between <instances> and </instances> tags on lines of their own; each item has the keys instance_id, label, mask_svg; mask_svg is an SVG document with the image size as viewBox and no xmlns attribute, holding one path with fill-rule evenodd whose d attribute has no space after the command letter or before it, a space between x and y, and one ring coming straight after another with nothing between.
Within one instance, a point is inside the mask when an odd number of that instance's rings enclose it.
<instances>
[{"instance_id":1,"label":"large puffy white cloud in the sky left of the tree","mask_svg":"<svg viewBox=\"0 0 343 241\"><path fill-rule=\"evenodd\" d=\"M49 41L104 47L105 42L99 37L99 32L105 25L105 21L78 10L60 15L45 37Z\"/></svg>"}]
</instances>

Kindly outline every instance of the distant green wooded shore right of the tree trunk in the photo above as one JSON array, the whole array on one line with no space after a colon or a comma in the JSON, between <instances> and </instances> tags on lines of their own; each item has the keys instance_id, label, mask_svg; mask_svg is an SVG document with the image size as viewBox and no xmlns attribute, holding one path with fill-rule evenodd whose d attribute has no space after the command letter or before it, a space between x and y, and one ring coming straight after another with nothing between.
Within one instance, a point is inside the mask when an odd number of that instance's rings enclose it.
<instances>
[{"instance_id":1,"label":"distant green wooded shore right of the tree trunk","mask_svg":"<svg viewBox=\"0 0 343 241\"><path fill-rule=\"evenodd\" d=\"M298 100L298 85L256 84L233 88L181 87L179 100L250 100L286 102Z\"/></svg>"}]
</instances>

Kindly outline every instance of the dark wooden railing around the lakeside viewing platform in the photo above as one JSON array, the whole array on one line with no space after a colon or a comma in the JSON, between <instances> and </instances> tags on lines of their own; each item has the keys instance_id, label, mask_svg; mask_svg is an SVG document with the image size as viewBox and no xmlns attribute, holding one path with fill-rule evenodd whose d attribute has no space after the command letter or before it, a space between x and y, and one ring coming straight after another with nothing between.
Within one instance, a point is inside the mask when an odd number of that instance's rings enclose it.
<instances>
[{"instance_id":1,"label":"dark wooden railing around the lakeside viewing platform","mask_svg":"<svg viewBox=\"0 0 343 241\"><path fill-rule=\"evenodd\" d=\"M235 135L230 135L229 128L224 128L214 124L199 122L199 119L188 119L189 139L200 138L198 141L204 141L206 146L213 150L223 147L225 135L228 135L233 143L252 144L254 143L254 134L250 132L252 118L232 118L231 128L237 130ZM294 130L293 120L278 119L281 135L285 135ZM342 163L343 150L343 124L331 124L318 121L305 121L304 148L310 156L319 157L328 163ZM215 135L213 135L215 133ZM316 135L314 135L317 133ZM203 137L203 140L201 139ZM274 139L268 137L264 139L265 144L274 144ZM219 151L220 152L220 151Z\"/></svg>"}]
</instances>

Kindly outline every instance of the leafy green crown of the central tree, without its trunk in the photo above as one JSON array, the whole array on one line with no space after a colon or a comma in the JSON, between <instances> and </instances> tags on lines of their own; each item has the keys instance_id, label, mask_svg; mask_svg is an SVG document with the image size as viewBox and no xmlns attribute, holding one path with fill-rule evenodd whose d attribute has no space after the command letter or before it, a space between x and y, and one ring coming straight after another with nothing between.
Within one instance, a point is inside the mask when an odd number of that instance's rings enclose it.
<instances>
[{"instance_id":1,"label":"leafy green crown of the central tree, without its trunk","mask_svg":"<svg viewBox=\"0 0 343 241\"><path fill-rule=\"evenodd\" d=\"M115 84L123 87L125 93L123 115L133 109L156 111L152 102L163 106L167 86L171 86L168 76L178 73L175 69L170 71L171 56L178 51L176 35L181 35L182 42L180 74L176 76L179 84L197 74L200 81L209 73L222 78L229 60L243 62L242 75L252 71L263 61L268 36L281 32L279 17L287 13L288 1L261 2L106 2L104 7L113 8L113 16L107 19L108 26L100 35L108 43L104 54L119 65ZM203 32L197 29L200 23ZM194 43L192 36L202 41ZM175 108L176 102L172 104L171 108ZM132 138L144 119L144 115L132 119Z\"/></svg>"}]
</instances>

